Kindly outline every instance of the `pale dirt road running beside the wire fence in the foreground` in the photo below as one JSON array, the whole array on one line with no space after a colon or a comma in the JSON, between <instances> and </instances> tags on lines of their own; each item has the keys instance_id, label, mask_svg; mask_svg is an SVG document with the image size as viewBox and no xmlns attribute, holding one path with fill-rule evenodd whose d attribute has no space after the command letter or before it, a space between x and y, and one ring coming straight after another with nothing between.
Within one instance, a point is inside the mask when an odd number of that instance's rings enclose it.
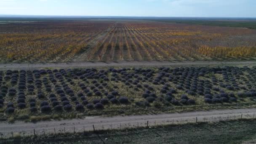
<instances>
[{"instance_id":1,"label":"pale dirt road running beside the wire fence in the foreground","mask_svg":"<svg viewBox=\"0 0 256 144\"><path fill-rule=\"evenodd\" d=\"M203 121L219 121L225 119L237 119L243 114L243 117L254 117L256 108L254 109L225 109L225 110L212 110L205 112L186 112L186 113L172 113L172 114L160 114L160 115L135 115L135 116L115 116L115 117L85 117L84 119L73 119L73 120L52 120L52 121L41 121L37 123L25 123L16 122L9 124L7 122L0 122L0 133L3 136L11 136L13 133L25 132L25 135L34 134L33 130L37 135L44 133L64 133L64 132L83 132L92 131L93 126L96 130L102 129L120 129L131 128L137 126L146 126L147 121L150 125L166 125L166 124L177 124L177 123L195 123ZM85 126L85 127L84 127ZM64 130L65 128L65 130Z\"/></svg>"}]
</instances>

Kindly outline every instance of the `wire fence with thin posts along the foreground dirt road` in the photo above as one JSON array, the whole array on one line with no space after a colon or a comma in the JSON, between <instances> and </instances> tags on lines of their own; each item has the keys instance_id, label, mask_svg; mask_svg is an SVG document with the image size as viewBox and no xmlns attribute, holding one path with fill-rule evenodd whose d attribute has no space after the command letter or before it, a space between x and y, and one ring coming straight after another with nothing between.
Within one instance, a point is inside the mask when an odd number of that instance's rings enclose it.
<instances>
[{"instance_id":1,"label":"wire fence with thin posts along the foreground dirt road","mask_svg":"<svg viewBox=\"0 0 256 144\"><path fill-rule=\"evenodd\" d=\"M243 114L227 114L227 115L213 115L213 116L198 116L198 117L179 117L179 118L164 118L154 120L139 120L120 123L104 123L93 125L58 125L47 126L46 128L32 128L27 130L13 130L13 131L1 131L0 138L15 138L26 136L39 136L48 134L59 133L82 133L88 131L104 131L104 130L123 130L130 128L150 128L154 126L165 125L181 125L188 123L201 123L201 122L219 122L238 119L254 119L255 113L243 113Z\"/></svg>"}]
</instances>

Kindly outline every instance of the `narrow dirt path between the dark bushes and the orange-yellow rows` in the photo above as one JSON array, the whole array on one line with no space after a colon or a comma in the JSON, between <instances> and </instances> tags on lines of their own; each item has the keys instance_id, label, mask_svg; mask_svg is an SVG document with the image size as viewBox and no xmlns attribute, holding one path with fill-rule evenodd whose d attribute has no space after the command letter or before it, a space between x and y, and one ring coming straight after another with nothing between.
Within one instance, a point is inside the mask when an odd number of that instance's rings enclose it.
<instances>
[{"instance_id":1,"label":"narrow dirt path between the dark bushes and the orange-yellow rows","mask_svg":"<svg viewBox=\"0 0 256 144\"><path fill-rule=\"evenodd\" d=\"M4 69L40 69L40 68L82 68L82 67L163 67L163 66L211 66L211 65L253 65L256 61L121 61L121 62L67 62L67 63L35 63L35 64L0 64L0 70Z\"/></svg>"}]
</instances>

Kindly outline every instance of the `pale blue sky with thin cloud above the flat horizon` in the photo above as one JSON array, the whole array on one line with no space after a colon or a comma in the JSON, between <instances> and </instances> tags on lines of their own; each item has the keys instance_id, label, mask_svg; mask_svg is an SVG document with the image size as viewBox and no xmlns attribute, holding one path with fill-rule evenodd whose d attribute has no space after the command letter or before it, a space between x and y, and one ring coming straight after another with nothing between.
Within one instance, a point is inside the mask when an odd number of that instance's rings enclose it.
<instances>
[{"instance_id":1,"label":"pale blue sky with thin cloud above the flat horizon","mask_svg":"<svg viewBox=\"0 0 256 144\"><path fill-rule=\"evenodd\" d=\"M0 14L256 17L256 0L0 0Z\"/></svg>"}]
</instances>

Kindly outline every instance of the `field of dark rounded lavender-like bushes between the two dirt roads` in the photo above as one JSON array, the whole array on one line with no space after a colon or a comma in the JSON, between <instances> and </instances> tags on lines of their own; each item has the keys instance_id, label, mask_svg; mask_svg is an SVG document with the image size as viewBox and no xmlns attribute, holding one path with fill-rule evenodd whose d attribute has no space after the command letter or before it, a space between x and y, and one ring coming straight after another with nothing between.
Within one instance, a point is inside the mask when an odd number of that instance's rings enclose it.
<instances>
[{"instance_id":1,"label":"field of dark rounded lavender-like bushes between the two dirt roads","mask_svg":"<svg viewBox=\"0 0 256 144\"><path fill-rule=\"evenodd\" d=\"M255 107L255 71L227 66L1 71L1 118L33 121Z\"/></svg>"}]
</instances>

